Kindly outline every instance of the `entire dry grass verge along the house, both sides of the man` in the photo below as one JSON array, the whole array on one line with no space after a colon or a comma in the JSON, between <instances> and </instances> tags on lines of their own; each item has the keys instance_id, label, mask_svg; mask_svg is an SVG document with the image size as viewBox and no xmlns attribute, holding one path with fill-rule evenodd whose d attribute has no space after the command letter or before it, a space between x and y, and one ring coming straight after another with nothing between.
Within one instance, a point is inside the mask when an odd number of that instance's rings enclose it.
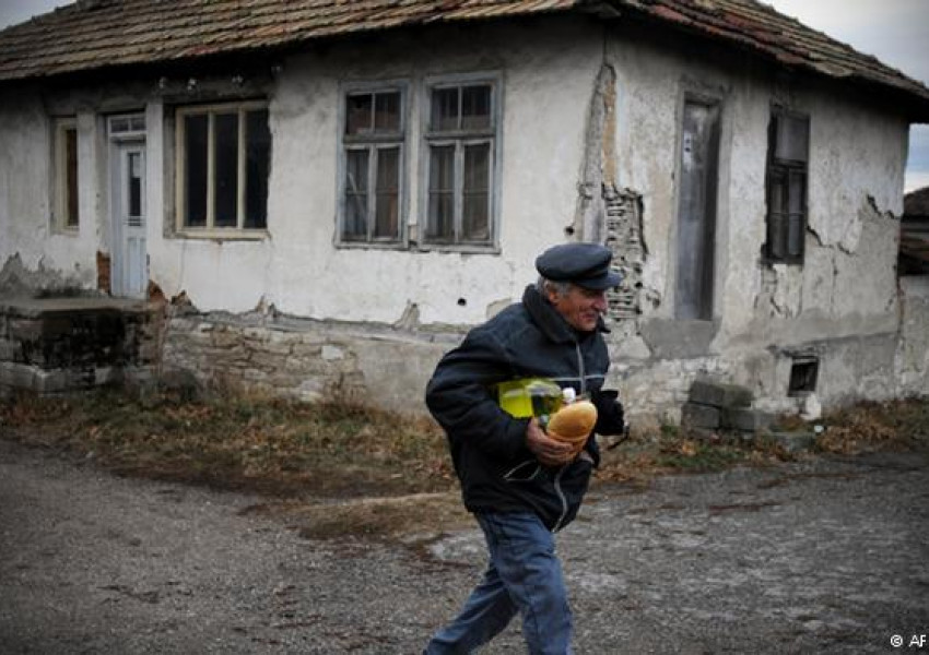
<instances>
[{"instance_id":1,"label":"entire dry grass verge along the house, both sides of the man","mask_svg":"<svg viewBox=\"0 0 929 655\"><path fill-rule=\"evenodd\" d=\"M929 451L929 398L863 403L832 412L818 425L819 453ZM435 422L350 401L23 394L0 403L0 428L5 438L92 458L118 474L268 496L252 511L285 514L307 537L413 534L427 541L469 521ZM781 428L811 426L788 418ZM639 431L619 448L608 444L595 484L640 488L658 475L814 456L766 439L695 438L675 426Z\"/></svg>"}]
</instances>

